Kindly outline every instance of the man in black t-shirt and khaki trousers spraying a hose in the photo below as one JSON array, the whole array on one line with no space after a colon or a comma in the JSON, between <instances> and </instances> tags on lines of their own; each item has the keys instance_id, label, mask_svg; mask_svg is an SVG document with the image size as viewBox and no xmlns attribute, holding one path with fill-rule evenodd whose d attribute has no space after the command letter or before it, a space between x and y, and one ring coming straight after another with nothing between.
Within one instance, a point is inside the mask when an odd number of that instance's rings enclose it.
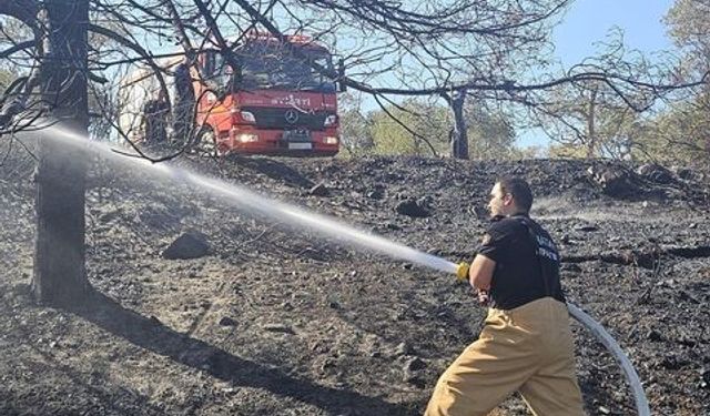
<instances>
[{"instance_id":1,"label":"man in black t-shirt and khaki trousers spraying a hose","mask_svg":"<svg viewBox=\"0 0 710 416\"><path fill-rule=\"evenodd\" d=\"M468 274L488 315L478 339L438 379L425 416L487 415L516 390L535 415L585 414L559 253L530 220L531 205L525 180L495 183L491 223Z\"/></svg>"}]
</instances>

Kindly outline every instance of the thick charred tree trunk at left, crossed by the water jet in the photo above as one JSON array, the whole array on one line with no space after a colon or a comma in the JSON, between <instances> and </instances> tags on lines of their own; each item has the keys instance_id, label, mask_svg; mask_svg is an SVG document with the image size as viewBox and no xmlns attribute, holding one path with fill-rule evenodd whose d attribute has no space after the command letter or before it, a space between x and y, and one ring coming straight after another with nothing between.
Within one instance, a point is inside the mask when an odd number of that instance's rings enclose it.
<instances>
[{"instance_id":1,"label":"thick charred tree trunk at left, crossed by the water jet","mask_svg":"<svg viewBox=\"0 0 710 416\"><path fill-rule=\"evenodd\" d=\"M44 6L42 101L55 126L85 136L89 1L47 0ZM40 134L39 148L32 293L43 304L81 303L89 290L84 268L87 158L52 129Z\"/></svg>"}]
</instances>

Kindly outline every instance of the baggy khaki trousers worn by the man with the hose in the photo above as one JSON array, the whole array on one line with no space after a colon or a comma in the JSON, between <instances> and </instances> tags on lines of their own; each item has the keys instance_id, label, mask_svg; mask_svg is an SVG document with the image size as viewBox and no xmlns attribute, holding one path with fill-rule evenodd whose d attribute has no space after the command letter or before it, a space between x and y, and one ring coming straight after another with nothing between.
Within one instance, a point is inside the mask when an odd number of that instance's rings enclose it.
<instances>
[{"instance_id":1,"label":"baggy khaki trousers worn by the man with the hose","mask_svg":"<svg viewBox=\"0 0 710 416\"><path fill-rule=\"evenodd\" d=\"M479 338L439 378L425 416L487 415L516 390L535 415L585 414L561 302L490 308Z\"/></svg>"}]
</instances>

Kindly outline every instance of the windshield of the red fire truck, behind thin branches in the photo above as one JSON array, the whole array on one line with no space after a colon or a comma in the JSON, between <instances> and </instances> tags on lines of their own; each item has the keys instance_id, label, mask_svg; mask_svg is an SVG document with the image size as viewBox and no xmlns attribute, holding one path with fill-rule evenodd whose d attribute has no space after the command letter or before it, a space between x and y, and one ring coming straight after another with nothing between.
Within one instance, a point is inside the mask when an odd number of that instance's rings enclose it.
<instances>
[{"instance_id":1,"label":"windshield of the red fire truck, behind thin branches","mask_svg":"<svg viewBox=\"0 0 710 416\"><path fill-rule=\"evenodd\" d=\"M275 48L253 48L252 52L240 53L241 89L335 92L335 82L302 59L280 53L283 51ZM333 70L333 60L325 52L310 53L308 61Z\"/></svg>"}]
</instances>

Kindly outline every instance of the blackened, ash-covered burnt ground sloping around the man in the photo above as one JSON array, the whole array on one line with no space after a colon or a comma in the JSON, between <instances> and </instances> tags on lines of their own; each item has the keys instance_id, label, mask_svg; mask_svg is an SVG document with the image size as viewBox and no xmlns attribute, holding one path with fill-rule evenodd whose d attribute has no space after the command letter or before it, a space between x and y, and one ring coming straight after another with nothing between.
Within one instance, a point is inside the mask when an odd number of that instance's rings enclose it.
<instances>
[{"instance_id":1,"label":"blackened, ash-covered burnt ground sloping around the man","mask_svg":"<svg viewBox=\"0 0 710 416\"><path fill-rule=\"evenodd\" d=\"M28 294L33 162L16 150L0 168L1 415L418 415L480 329L484 310L452 275L241 211L148 171L94 162L87 272L95 294L70 310L37 306ZM600 161L172 164L454 262L478 245L495 177L519 174L537 195L534 216L564 252L569 301L628 353L652 413L710 415L701 172L617 169L628 177L613 182L599 173ZM209 253L165 258L184 234L204 240ZM635 414L613 358L574 328L588 413ZM513 396L494 414L528 412Z\"/></svg>"}]
</instances>

